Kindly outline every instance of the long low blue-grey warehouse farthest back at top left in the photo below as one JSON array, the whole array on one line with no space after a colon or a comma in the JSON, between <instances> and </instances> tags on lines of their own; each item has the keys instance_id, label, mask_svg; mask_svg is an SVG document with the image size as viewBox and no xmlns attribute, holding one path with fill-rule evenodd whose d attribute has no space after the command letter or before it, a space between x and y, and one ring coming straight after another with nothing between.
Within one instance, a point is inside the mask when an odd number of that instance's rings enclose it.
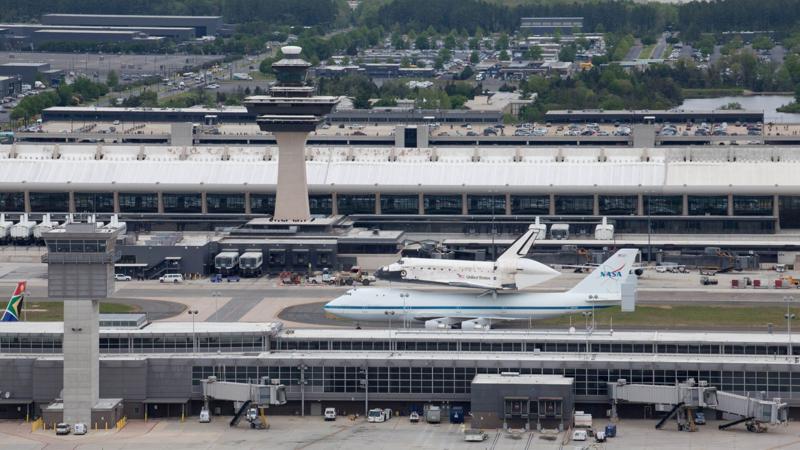
<instances>
[{"instance_id":1,"label":"long low blue-grey warehouse farthest back at top left","mask_svg":"<svg viewBox=\"0 0 800 450\"><path fill-rule=\"evenodd\" d=\"M43 25L105 27L190 27L195 37L220 34L222 16L146 16L120 14L44 14Z\"/></svg>"}]
</instances>

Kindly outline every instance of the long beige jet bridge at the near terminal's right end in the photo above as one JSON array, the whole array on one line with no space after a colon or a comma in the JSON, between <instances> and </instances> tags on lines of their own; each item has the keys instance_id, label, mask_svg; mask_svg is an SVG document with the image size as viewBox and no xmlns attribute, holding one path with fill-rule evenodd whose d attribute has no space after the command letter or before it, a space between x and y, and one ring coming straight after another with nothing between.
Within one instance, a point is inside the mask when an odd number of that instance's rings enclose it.
<instances>
[{"instance_id":1,"label":"long beige jet bridge at the near terminal's right end","mask_svg":"<svg viewBox=\"0 0 800 450\"><path fill-rule=\"evenodd\" d=\"M745 423L748 431L766 431L766 425L786 423L787 404L781 399L768 400L765 395L751 397L717 390L705 381L696 383L690 379L674 386L655 386L649 384L627 384L620 379L608 383L608 392L613 401L612 415L617 416L617 403L645 403L672 405L672 410L662 418L656 428L661 428L673 416L678 418L680 429L694 430L694 412L699 408L713 409L741 417L741 419L722 424L721 430L739 423Z\"/></svg>"}]
</instances>

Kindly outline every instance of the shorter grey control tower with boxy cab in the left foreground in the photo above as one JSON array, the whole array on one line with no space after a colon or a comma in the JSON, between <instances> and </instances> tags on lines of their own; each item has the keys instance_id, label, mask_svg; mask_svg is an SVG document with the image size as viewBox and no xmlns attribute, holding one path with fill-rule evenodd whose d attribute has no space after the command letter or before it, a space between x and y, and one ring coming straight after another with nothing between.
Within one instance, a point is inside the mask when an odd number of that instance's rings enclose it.
<instances>
[{"instance_id":1,"label":"shorter grey control tower with boxy cab in the left foreground","mask_svg":"<svg viewBox=\"0 0 800 450\"><path fill-rule=\"evenodd\" d=\"M118 228L67 223L42 234L47 293L64 301L63 422L92 423L100 400L100 300L114 291ZM120 401L115 399L115 402Z\"/></svg>"}]
</instances>

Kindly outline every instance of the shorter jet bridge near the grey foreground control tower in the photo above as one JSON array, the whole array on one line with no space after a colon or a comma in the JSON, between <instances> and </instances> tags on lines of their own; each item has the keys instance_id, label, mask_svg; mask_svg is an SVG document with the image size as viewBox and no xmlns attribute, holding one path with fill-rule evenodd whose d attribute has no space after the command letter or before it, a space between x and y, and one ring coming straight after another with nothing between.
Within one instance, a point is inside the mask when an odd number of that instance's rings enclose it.
<instances>
[{"instance_id":1,"label":"shorter jet bridge near the grey foreground control tower","mask_svg":"<svg viewBox=\"0 0 800 450\"><path fill-rule=\"evenodd\" d=\"M208 409L208 400L232 401L236 413L230 425L239 424L242 416L250 422L251 428L267 428L266 417L263 410L270 406L286 404L286 386L264 377L261 383L236 383L230 381L217 381L217 377L208 377L203 380L204 410Z\"/></svg>"}]
</instances>

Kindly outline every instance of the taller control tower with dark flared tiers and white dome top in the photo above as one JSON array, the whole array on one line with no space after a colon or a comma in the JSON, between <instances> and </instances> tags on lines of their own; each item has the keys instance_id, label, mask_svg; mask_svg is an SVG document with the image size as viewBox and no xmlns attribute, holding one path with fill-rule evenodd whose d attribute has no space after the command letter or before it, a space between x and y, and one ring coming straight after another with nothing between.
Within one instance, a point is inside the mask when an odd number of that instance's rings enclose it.
<instances>
[{"instance_id":1,"label":"taller control tower with dark flared tiers and white dome top","mask_svg":"<svg viewBox=\"0 0 800 450\"><path fill-rule=\"evenodd\" d=\"M281 51L284 58L272 64L278 82L270 87L269 95L245 99L245 106L258 116L256 122L261 130L272 132L278 141L274 218L306 221L311 218L306 180L306 138L336 106L339 98L314 95L314 86L306 82L311 64L300 57L300 47L287 46Z\"/></svg>"}]
</instances>

